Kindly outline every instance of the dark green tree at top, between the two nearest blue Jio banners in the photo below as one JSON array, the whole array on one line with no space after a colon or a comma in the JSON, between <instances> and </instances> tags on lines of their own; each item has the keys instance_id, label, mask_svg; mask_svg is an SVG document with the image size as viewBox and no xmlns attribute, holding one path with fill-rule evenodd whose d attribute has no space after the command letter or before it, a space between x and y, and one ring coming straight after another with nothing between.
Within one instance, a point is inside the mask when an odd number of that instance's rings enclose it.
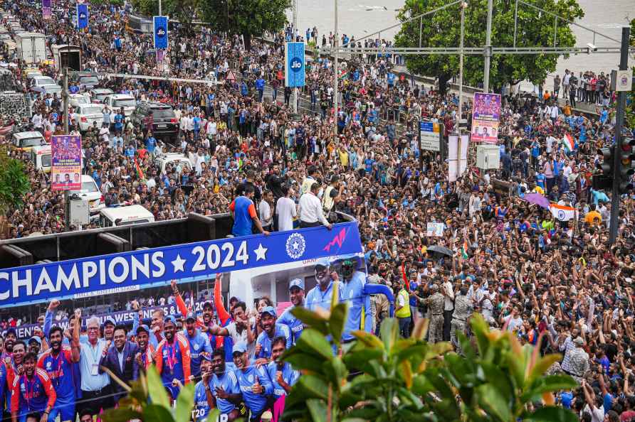
<instances>
[{"instance_id":1,"label":"dark green tree at top, between the two nearest blue Jio banners","mask_svg":"<svg viewBox=\"0 0 635 422\"><path fill-rule=\"evenodd\" d=\"M290 6L290 0L209 0L201 4L201 14L214 30L242 35L249 50L253 36L283 28Z\"/></svg>"}]
</instances>

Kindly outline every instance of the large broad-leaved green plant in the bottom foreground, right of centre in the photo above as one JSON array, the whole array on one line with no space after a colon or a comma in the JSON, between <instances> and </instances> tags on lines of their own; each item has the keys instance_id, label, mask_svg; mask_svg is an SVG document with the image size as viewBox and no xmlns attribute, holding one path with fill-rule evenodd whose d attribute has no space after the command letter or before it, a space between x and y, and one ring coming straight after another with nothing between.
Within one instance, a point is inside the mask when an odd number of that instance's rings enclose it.
<instances>
[{"instance_id":1,"label":"large broad-leaved green plant in the bottom foreground, right of centre","mask_svg":"<svg viewBox=\"0 0 635 422\"><path fill-rule=\"evenodd\" d=\"M554 406L553 392L577 386L568 375L544 376L560 355L540 357L512 332L490 330L481 315L463 335L457 355L446 342L424 341L428 320L410 338L399 337L397 320L382 322L381 335L353 332L340 345L346 304L328 313L292 311L310 328L283 356L303 375L285 402L283 419L313 422L577 422ZM333 354L333 350L341 349ZM355 377L350 377L355 374Z\"/></svg>"}]
</instances>

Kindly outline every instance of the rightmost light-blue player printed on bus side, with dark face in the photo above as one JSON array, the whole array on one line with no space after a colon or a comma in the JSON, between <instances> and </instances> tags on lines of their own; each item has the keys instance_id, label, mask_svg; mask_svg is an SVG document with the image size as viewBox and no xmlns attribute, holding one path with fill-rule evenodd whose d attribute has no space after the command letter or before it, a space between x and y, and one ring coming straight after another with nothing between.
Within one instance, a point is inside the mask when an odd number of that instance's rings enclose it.
<instances>
[{"instance_id":1,"label":"rightmost light-blue player printed on bus side, with dark face","mask_svg":"<svg viewBox=\"0 0 635 422\"><path fill-rule=\"evenodd\" d=\"M348 302L348 316L342 333L342 340L350 342L355 340L352 331L360 330L362 323L362 308L364 310L364 331L372 332L372 313L370 309L370 296L364 294L366 274L357 271L355 259L345 259L340 267L342 271L342 286L340 288L340 301Z\"/></svg>"}]
</instances>

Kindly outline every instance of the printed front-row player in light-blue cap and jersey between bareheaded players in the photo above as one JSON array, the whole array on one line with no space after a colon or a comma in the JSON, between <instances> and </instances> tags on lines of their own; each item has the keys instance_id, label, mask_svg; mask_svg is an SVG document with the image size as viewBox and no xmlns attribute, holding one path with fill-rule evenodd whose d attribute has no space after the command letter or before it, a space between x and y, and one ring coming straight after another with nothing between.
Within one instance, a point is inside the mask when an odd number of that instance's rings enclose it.
<instances>
[{"instance_id":1,"label":"printed front-row player in light-blue cap and jersey between bareheaded players","mask_svg":"<svg viewBox=\"0 0 635 422\"><path fill-rule=\"evenodd\" d=\"M243 394L243 402L251 416L250 422L260 421L261 415L270 407L269 395L273 394L273 385L265 368L249 362L247 348L239 343L233 346L233 364L236 365L236 379Z\"/></svg>"}]
</instances>

